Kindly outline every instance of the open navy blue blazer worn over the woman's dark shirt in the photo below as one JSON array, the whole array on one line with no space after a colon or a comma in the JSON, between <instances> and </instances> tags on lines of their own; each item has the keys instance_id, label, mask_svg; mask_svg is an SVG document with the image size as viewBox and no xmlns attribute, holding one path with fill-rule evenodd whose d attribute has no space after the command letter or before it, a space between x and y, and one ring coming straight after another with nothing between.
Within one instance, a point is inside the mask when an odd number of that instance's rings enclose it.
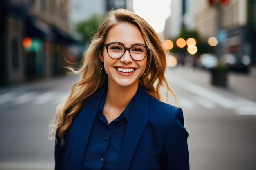
<instances>
[{"instance_id":1,"label":"open navy blue blazer worn over the woman's dark shirt","mask_svg":"<svg viewBox=\"0 0 256 170\"><path fill-rule=\"evenodd\" d=\"M97 90L55 144L55 170L81 170L101 97ZM182 109L149 95L139 85L130 111L116 170L189 170L188 132Z\"/></svg>"}]
</instances>

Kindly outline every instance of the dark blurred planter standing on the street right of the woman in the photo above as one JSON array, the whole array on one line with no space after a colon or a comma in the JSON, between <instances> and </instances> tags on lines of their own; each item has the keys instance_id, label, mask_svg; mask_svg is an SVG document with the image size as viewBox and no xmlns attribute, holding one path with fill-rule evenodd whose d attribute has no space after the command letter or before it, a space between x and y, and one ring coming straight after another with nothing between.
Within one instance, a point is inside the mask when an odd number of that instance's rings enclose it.
<instances>
[{"instance_id":1,"label":"dark blurred planter standing on the street right of the woman","mask_svg":"<svg viewBox=\"0 0 256 170\"><path fill-rule=\"evenodd\" d=\"M211 69L211 84L215 86L227 86L228 68L225 65L219 64Z\"/></svg>"}]
</instances>

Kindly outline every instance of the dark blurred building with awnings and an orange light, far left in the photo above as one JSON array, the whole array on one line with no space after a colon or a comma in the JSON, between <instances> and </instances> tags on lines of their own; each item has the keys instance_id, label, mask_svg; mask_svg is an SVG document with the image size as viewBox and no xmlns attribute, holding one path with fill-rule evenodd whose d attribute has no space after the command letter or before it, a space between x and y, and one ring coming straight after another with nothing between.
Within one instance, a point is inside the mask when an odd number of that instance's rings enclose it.
<instances>
[{"instance_id":1,"label":"dark blurred building with awnings and an orange light, far left","mask_svg":"<svg viewBox=\"0 0 256 170\"><path fill-rule=\"evenodd\" d=\"M63 73L67 0L2 0L0 85Z\"/></svg>"}]
</instances>

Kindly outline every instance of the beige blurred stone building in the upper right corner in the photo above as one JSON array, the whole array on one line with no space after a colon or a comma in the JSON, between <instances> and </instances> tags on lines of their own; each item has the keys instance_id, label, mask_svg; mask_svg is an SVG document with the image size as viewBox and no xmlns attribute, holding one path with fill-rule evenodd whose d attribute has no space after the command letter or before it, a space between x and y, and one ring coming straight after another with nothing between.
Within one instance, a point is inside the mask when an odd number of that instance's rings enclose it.
<instances>
[{"instance_id":1,"label":"beige blurred stone building in the upper right corner","mask_svg":"<svg viewBox=\"0 0 256 170\"><path fill-rule=\"evenodd\" d=\"M194 24L205 40L216 36L222 54L241 59L248 56L256 65L256 0L194 0ZM219 54L219 55L222 55Z\"/></svg>"}]
</instances>

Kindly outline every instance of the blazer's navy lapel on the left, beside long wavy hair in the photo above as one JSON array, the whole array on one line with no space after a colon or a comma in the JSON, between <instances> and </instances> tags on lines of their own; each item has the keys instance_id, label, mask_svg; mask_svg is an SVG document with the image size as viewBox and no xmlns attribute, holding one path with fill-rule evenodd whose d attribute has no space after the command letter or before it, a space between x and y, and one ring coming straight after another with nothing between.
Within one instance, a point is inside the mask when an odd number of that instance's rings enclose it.
<instances>
[{"instance_id":1,"label":"blazer's navy lapel on the left, beside long wavy hair","mask_svg":"<svg viewBox=\"0 0 256 170\"><path fill-rule=\"evenodd\" d=\"M76 121L74 141L72 145L71 159L70 159L70 169L71 170L81 170L83 168L83 158L85 149L88 143L90 132L92 129L92 124L96 116L99 104L107 90L107 86L103 86L99 91L92 95L89 102L83 107L79 115L74 121Z\"/></svg>"}]
</instances>

